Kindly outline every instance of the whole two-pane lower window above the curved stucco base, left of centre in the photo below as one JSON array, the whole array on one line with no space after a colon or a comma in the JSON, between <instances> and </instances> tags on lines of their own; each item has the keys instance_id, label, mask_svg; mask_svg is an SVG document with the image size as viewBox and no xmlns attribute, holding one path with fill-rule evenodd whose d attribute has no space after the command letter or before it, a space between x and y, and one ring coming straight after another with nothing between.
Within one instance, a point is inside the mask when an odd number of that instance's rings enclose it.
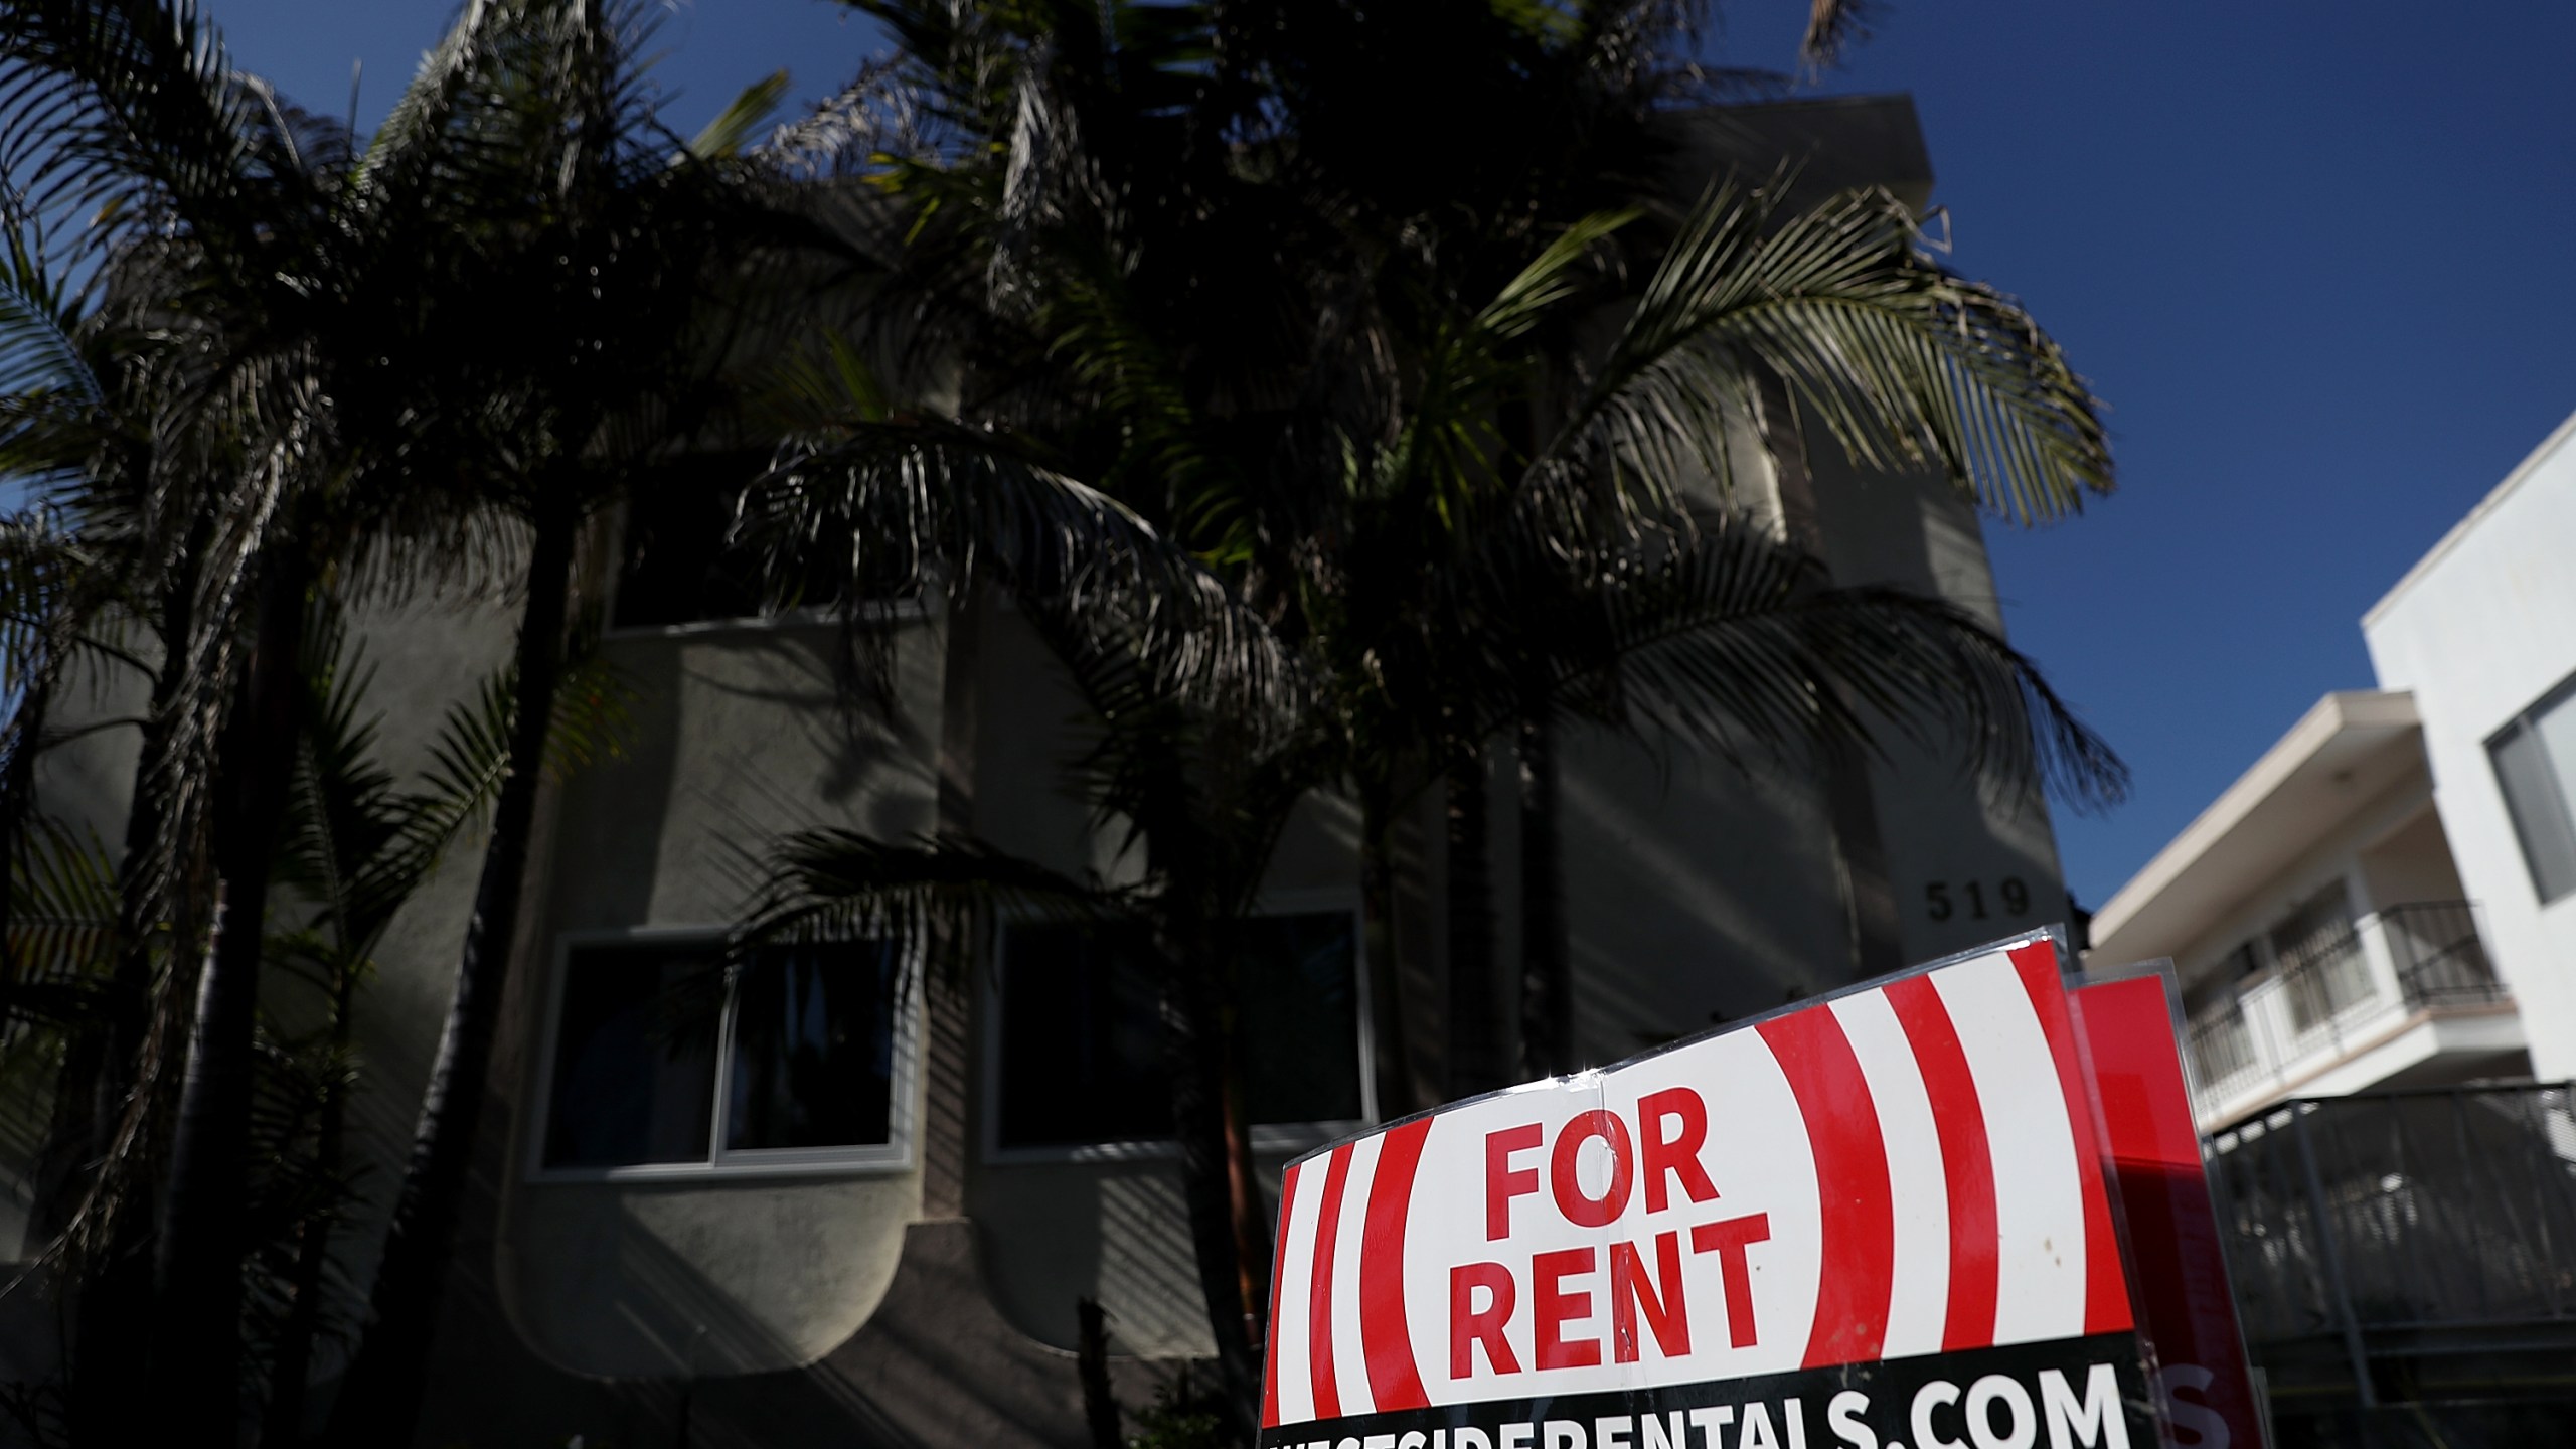
<instances>
[{"instance_id":1,"label":"whole two-pane lower window above the curved stucco base, left of centre","mask_svg":"<svg viewBox=\"0 0 2576 1449\"><path fill-rule=\"evenodd\" d=\"M577 941L554 995L549 1176L902 1165L899 954L876 941Z\"/></svg>"}]
</instances>

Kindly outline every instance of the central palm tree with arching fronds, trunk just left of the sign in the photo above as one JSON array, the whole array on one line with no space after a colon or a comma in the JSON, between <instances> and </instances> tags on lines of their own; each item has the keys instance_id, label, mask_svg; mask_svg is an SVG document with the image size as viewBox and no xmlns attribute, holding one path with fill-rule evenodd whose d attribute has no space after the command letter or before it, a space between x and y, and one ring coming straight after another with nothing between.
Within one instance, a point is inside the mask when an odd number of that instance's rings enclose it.
<instances>
[{"instance_id":1,"label":"central palm tree with arching fronds, trunk just left of the sign","mask_svg":"<svg viewBox=\"0 0 2576 1449\"><path fill-rule=\"evenodd\" d=\"M773 578L809 580L822 552L850 565L840 596L855 598L914 580L925 557L943 557L951 588L992 580L1012 590L1092 706L1100 743L1079 773L1103 828L1126 830L1146 866L1146 884L1115 908L1146 923L1167 969L1190 1235L1236 1395L1249 1392L1236 1325L1260 1302L1267 1263L1260 1232L1242 1230L1244 1194L1229 1194L1229 1178L1249 1181L1249 1145L1224 1111L1229 998L1213 946L1249 910L1301 797L1352 776L1386 789L1401 768L1391 758L1440 758L1453 740L1481 740L1507 719L1492 701L1525 706L1533 681L1540 699L1579 699L1595 714L1698 743L1850 737L1891 714L1919 732L1953 727L1986 755L2102 779L2099 743L1973 619L1888 590L1819 588L1795 549L1741 518L1692 511L1680 482L1685 464L1728 467L1726 369L1744 366L1736 353L1770 356L1770 309L1829 309L1839 294L1824 294L1819 278L1862 273L1852 286L1896 317L1984 297L1929 266L1834 250L1855 237L1878 242L1850 219L1883 206L1847 199L1772 227L1757 199L1713 193L1597 358L1600 382L1569 423L1497 480L1476 420L1512 376L1512 345L1543 317L1592 304L1584 268L1623 219L1571 229L1427 348L1430 382L1391 405L1391 441L1345 438L1342 477L1321 480L1303 508L1257 516L1280 554L1298 559L1285 580L1193 567L1100 490L1033 462L1054 454L1038 438L927 423L889 402L881 384L853 389L842 423L799 438L747 503L747 536L765 544ZM1216 449L1229 420L1185 402L1164 353L1115 312L1115 294L1077 268L1051 281L1069 297L1061 315L1082 320L1059 348L1097 387L1103 415L1128 431L1105 472L1115 477L1136 454L1188 462L1206 490L1252 472ZM1989 364L1971 351L1984 343L1947 343L1945 325L1922 335L1927 358L1888 364L1878 353L1870 374L1834 351L1847 333L1811 333L1806 353L1780 356L1826 358L1793 376L1860 420L1855 446L1919 443L1922 433L1901 428L1955 400L2058 469L2009 485L2081 485L2089 410L2081 392L2050 392L2053 353L2038 366ZM2004 387L2014 382L2020 392ZM2074 443L2040 436L2069 410ZM1236 518L1257 503L1211 500ZM1309 531L1280 539L1291 526ZM1218 632L1172 629L1182 608L1162 598L1190 606L1211 588L1236 601L1200 606L1200 629ZM1533 608L1540 619L1522 616ZM1149 621L1164 624L1159 639ZM1291 688L1226 688L1239 673ZM979 902L999 884L981 866L1005 861L961 843L907 853L832 833L796 838L775 859L752 931L848 928L853 913L884 920L896 905ZM1036 866L1007 869L1038 890ZM1097 884L1059 882L1051 900L1110 908Z\"/></svg>"}]
</instances>

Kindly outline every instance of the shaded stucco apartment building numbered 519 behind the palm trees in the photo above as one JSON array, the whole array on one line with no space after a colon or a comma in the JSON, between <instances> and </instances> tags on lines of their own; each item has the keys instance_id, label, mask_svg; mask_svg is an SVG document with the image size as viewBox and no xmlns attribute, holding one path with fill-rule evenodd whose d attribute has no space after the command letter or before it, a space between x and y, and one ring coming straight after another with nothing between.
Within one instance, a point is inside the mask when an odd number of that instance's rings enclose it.
<instances>
[{"instance_id":1,"label":"shaded stucco apartment building numbered 519 behind the palm trees","mask_svg":"<svg viewBox=\"0 0 2576 1449\"><path fill-rule=\"evenodd\" d=\"M1904 95L1716 113L1687 191L1783 160L1808 191L1883 183L1929 201ZM1821 431L1765 425L1780 464L1754 503L1808 529L1837 580L1940 593L1999 627L1978 518L1945 485L1862 474ZM1066 781L1072 691L1010 608L907 603L873 619L894 706L853 712L835 624L744 616L711 536L703 518L634 513L592 559L603 647L639 704L623 755L544 804L420 1441L1082 1444L1077 1299L1108 1310L1131 1405L1211 1348L1151 995L1110 944L997 920L979 969L902 993L886 990L886 944L775 951L724 987L711 1029L657 1029L670 993L706 980L747 861L788 830L953 828L1121 871ZM407 763L440 699L502 657L507 627L404 616L371 639ZM113 820L129 761L111 745L67 755L57 797ZM1577 737L1561 771L1587 1060L2063 913L2045 804L1950 761L1893 750L1808 779ZM1502 902L1507 789L1497 768ZM1399 830L1399 967L1360 951L1355 833L1347 802L1298 812L1247 944L1247 1093L1273 1171L1445 1093L1437 802ZM461 853L415 902L363 1008L379 1214L474 866ZM1499 926L1512 972L1515 913ZM1373 1011L1388 995L1396 1021ZM1510 1000L1510 977L1492 995ZM366 1253L350 1281L368 1279Z\"/></svg>"}]
</instances>

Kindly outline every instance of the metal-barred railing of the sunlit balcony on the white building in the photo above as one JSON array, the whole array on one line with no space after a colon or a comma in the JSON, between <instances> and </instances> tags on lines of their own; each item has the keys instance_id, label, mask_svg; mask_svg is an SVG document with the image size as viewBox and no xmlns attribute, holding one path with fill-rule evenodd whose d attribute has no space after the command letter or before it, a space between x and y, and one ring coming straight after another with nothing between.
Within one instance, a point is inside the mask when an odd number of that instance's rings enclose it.
<instances>
[{"instance_id":1,"label":"metal-barred railing of the sunlit balcony on the white building","mask_svg":"<svg viewBox=\"0 0 2576 1449\"><path fill-rule=\"evenodd\" d=\"M2473 902L2427 900L2331 920L2192 1016L2200 1106L2251 1106L2259 1088L2329 1067L2406 1016L2499 1000L2506 990Z\"/></svg>"}]
</instances>

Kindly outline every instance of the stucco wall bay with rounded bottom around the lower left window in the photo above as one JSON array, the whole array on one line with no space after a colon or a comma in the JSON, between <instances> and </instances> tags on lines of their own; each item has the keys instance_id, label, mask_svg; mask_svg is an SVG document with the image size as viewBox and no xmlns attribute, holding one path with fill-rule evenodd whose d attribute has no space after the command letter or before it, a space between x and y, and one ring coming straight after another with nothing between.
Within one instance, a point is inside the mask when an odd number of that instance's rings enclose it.
<instances>
[{"instance_id":1,"label":"stucco wall bay with rounded bottom around the lower left window","mask_svg":"<svg viewBox=\"0 0 2576 1449\"><path fill-rule=\"evenodd\" d=\"M608 639L636 691L631 745L556 799L526 1024L544 1021L564 936L721 931L742 913L750 861L786 830L930 828L935 632L920 619L896 632L891 717L840 704L829 627ZM500 1253L531 1348L580 1374L724 1374L806 1364L866 1323L920 1214L917 1152L907 1168L814 1176L531 1178L544 1052L523 1047ZM917 1096L917 1065L902 1091Z\"/></svg>"}]
</instances>

